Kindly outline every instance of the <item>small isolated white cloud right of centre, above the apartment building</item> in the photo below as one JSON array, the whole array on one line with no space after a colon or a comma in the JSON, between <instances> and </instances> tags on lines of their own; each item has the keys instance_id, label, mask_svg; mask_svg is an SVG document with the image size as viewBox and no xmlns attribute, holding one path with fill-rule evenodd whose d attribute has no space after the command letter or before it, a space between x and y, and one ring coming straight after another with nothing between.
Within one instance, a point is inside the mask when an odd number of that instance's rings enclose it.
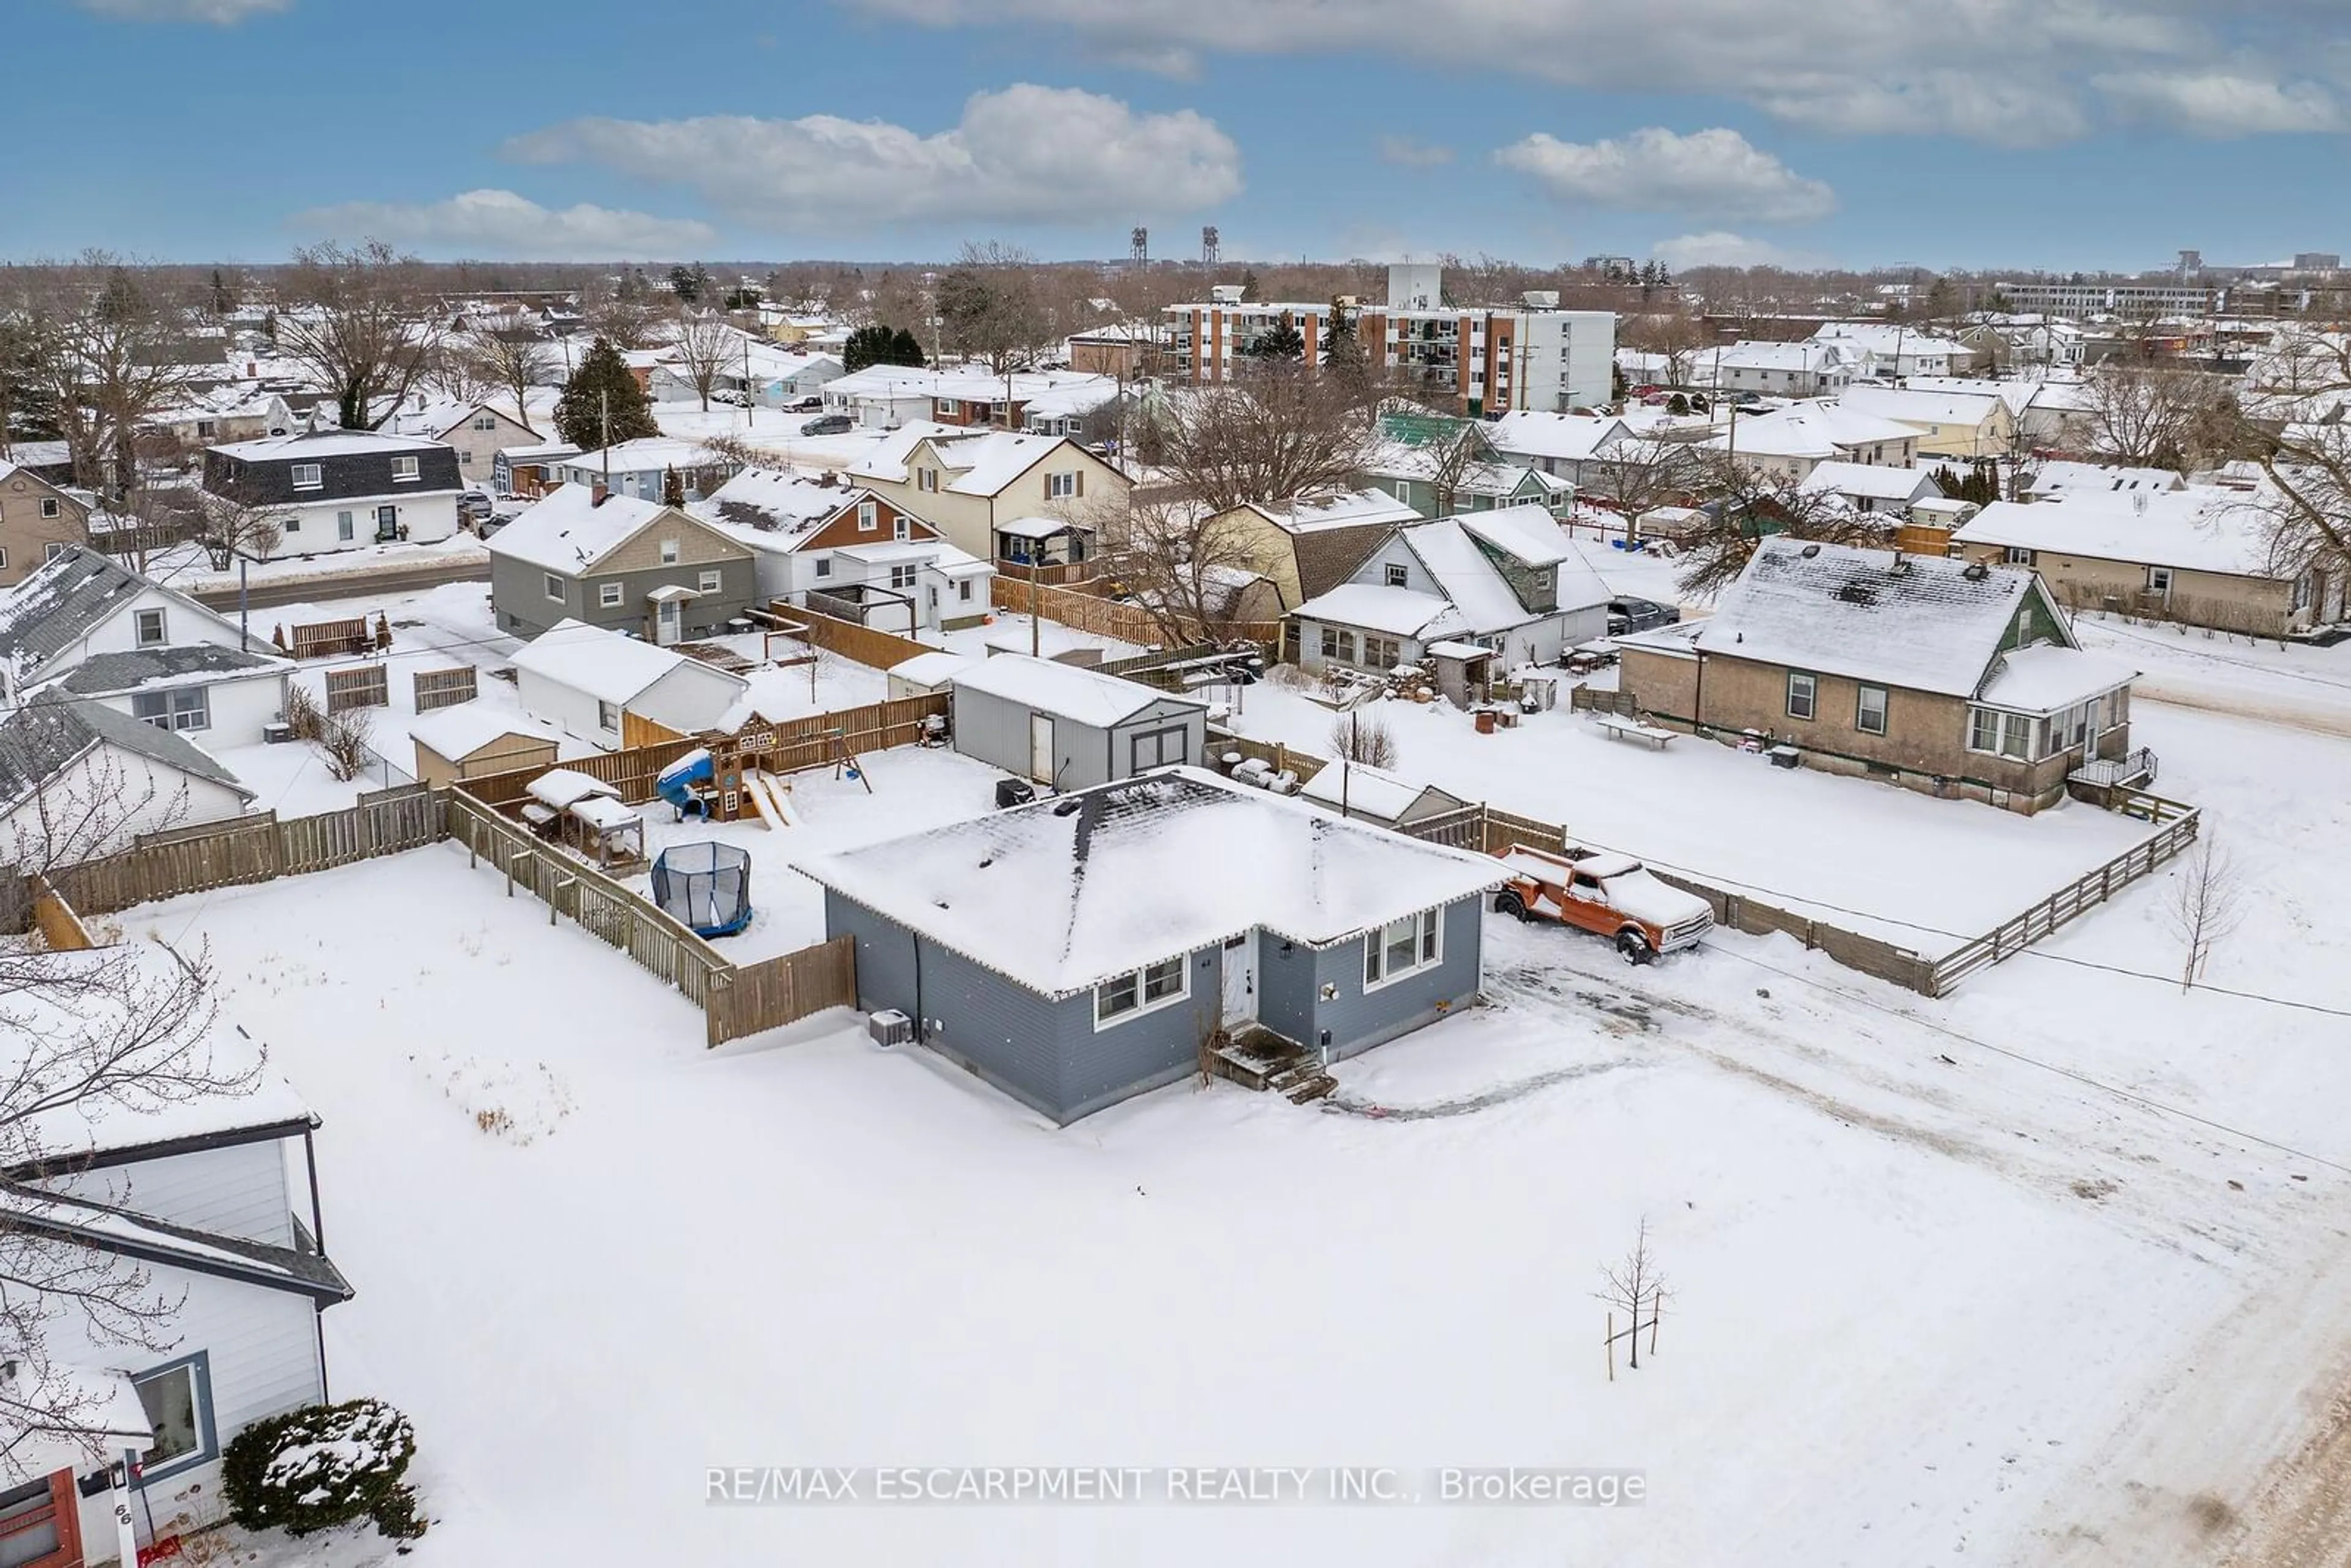
<instances>
[{"instance_id":1,"label":"small isolated white cloud right of centre, above the apartment building","mask_svg":"<svg viewBox=\"0 0 2351 1568\"><path fill-rule=\"evenodd\" d=\"M1620 141L1561 141L1538 132L1493 160L1582 207L1761 223L1810 223L1836 212L1836 193L1824 183L1721 127L1688 136L1648 127Z\"/></svg>"}]
</instances>

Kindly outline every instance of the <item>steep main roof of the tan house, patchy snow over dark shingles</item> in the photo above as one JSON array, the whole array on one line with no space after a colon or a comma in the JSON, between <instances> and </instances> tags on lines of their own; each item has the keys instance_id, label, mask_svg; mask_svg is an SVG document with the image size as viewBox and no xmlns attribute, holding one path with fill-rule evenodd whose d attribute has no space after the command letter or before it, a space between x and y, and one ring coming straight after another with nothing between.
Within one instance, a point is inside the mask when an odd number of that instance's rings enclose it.
<instances>
[{"instance_id":1,"label":"steep main roof of the tan house, patchy snow over dark shingles","mask_svg":"<svg viewBox=\"0 0 2351 1568\"><path fill-rule=\"evenodd\" d=\"M2022 569L1777 536L1756 545L1714 616L1676 642L1728 658L1975 696L2031 592L2034 574Z\"/></svg>"}]
</instances>

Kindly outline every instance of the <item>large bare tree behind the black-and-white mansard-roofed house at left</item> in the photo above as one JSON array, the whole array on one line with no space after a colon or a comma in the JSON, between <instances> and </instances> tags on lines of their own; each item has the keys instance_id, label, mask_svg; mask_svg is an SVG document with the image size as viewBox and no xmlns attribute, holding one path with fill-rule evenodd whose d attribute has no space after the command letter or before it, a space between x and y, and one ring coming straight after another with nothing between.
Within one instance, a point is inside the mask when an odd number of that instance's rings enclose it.
<instances>
[{"instance_id":1,"label":"large bare tree behind the black-and-white mansard-roofed house at left","mask_svg":"<svg viewBox=\"0 0 2351 1568\"><path fill-rule=\"evenodd\" d=\"M383 240L294 252L280 296L277 348L334 393L346 430L379 428L433 364L440 306L430 277Z\"/></svg>"}]
</instances>

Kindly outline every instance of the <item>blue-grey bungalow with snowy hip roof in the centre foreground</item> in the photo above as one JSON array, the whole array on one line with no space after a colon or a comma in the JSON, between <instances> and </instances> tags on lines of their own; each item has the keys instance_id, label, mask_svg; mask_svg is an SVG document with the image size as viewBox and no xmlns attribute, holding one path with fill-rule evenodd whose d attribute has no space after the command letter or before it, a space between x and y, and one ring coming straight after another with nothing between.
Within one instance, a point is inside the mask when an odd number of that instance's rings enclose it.
<instances>
[{"instance_id":1,"label":"blue-grey bungalow with snowy hip roof in the centre foreground","mask_svg":"<svg viewBox=\"0 0 2351 1568\"><path fill-rule=\"evenodd\" d=\"M1067 1126L1199 1067L1215 1032L1338 1060L1467 1006L1495 863L1197 769L799 870L858 1006Z\"/></svg>"}]
</instances>

